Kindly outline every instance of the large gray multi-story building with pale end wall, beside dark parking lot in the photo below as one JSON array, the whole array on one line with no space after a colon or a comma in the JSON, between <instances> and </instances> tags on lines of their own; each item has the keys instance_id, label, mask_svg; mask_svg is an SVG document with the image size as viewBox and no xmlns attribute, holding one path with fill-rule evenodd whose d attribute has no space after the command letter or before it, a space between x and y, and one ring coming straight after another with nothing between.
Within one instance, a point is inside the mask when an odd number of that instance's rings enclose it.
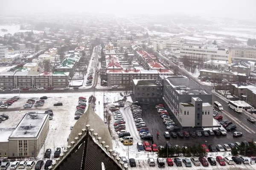
<instances>
[{"instance_id":1,"label":"large gray multi-story building with pale end wall, beside dark parking lot","mask_svg":"<svg viewBox=\"0 0 256 170\"><path fill-rule=\"evenodd\" d=\"M178 126L182 128L212 126L212 109L207 108L209 117L203 116L202 114L204 107L212 107L210 106L212 103L212 94L185 76L164 77L163 87L163 99L172 111ZM189 116L186 114L189 119L183 114L185 110L189 111Z\"/></svg>"}]
</instances>

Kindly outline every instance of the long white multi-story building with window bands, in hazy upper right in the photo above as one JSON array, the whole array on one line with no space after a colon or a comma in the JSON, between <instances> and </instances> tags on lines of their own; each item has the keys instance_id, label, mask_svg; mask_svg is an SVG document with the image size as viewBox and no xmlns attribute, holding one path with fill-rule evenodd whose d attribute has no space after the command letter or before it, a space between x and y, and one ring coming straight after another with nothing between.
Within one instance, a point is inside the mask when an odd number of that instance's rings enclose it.
<instances>
[{"instance_id":1,"label":"long white multi-story building with window bands, in hazy upper right","mask_svg":"<svg viewBox=\"0 0 256 170\"><path fill-rule=\"evenodd\" d=\"M228 61L228 54L229 52L227 48L212 48L207 46L183 46L180 49L180 57L203 57L207 60L216 59Z\"/></svg>"}]
</instances>

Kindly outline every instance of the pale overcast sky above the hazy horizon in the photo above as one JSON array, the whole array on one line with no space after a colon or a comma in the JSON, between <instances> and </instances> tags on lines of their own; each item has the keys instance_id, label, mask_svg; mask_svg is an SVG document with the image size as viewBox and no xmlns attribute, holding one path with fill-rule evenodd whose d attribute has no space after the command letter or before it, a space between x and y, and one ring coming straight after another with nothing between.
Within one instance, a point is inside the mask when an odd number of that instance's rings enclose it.
<instances>
[{"instance_id":1,"label":"pale overcast sky above the hazy horizon","mask_svg":"<svg viewBox=\"0 0 256 170\"><path fill-rule=\"evenodd\" d=\"M187 14L254 20L256 0L1 0L0 13ZM3 11L2 11L3 10Z\"/></svg>"}]
</instances>

